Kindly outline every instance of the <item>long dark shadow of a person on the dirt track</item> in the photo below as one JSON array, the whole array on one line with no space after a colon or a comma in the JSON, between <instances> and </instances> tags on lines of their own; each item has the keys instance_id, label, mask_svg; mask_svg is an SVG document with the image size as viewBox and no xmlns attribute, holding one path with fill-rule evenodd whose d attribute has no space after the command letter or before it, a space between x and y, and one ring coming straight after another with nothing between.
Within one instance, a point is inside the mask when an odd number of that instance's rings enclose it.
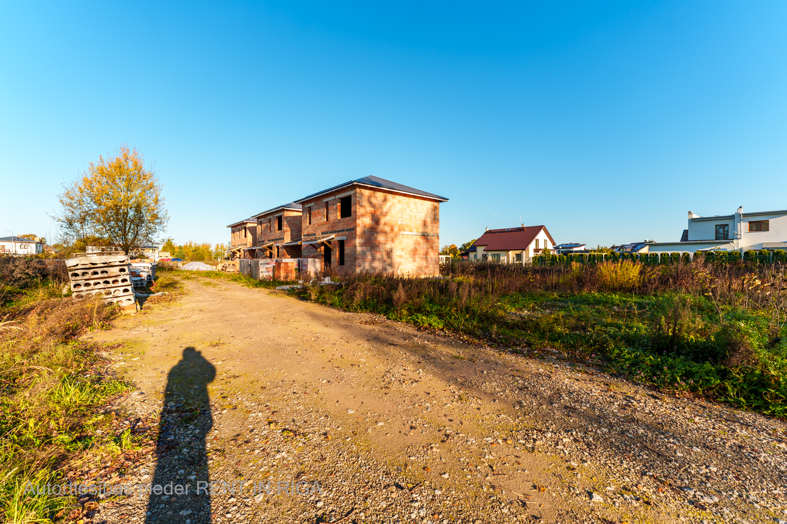
<instances>
[{"instance_id":1,"label":"long dark shadow of a person on the dirt track","mask_svg":"<svg viewBox=\"0 0 787 524\"><path fill-rule=\"evenodd\" d=\"M216 368L193 347L183 350L183 358L169 371L146 524L211 520L209 490L198 493L197 482L209 482L205 440L213 417L208 384L215 377Z\"/></svg>"}]
</instances>

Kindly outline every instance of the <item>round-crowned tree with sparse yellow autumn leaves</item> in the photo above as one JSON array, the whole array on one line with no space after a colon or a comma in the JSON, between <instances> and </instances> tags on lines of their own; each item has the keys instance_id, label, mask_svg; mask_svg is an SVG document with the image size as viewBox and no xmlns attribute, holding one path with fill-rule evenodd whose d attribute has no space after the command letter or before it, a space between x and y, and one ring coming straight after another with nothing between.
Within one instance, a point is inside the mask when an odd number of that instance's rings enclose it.
<instances>
[{"instance_id":1,"label":"round-crowned tree with sparse yellow autumn leaves","mask_svg":"<svg viewBox=\"0 0 787 524\"><path fill-rule=\"evenodd\" d=\"M57 200L61 211L54 218L65 244L99 237L131 254L140 246L158 244L157 236L169 220L156 173L127 145L116 156L91 162Z\"/></svg>"}]
</instances>

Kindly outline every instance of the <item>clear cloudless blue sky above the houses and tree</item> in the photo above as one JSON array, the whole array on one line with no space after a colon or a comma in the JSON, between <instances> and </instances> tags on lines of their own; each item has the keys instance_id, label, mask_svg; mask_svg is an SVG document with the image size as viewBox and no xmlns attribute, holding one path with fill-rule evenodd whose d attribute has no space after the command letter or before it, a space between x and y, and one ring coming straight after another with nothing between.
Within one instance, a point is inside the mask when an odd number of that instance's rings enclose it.
<instances>
[{"instance_id":1,"label":"clear cloudless blue sky above the houses and tree","mask_svg":"<svg viewBox=\"0 0 787 524\"><path fill-rule=\"evenodd\" d=\"M449 197L442 244L787 208L785 2L381 4L2 3L0 229L124 143L178 243L370 174Z\"/></svg>"}]
</instances>

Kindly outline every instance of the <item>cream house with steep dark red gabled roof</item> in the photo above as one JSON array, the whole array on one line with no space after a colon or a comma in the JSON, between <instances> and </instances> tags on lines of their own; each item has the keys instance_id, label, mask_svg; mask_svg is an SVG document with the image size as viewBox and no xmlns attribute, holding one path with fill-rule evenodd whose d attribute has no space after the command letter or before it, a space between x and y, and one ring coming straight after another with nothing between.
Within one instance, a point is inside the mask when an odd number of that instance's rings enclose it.
<instances>
[{"instance_id":1,"label":"cream house with steep dark red gabled roof","mask_svg":"<svg viewBox=\"0 0 787 524\"><path fill-rule=\"evenodd\" d=\"M520 225L516 228L489 229L467 250L470 262L508 262L523 264L545 249L552 249L555 240L543 225Z\"/></svg>"}]
</instances>

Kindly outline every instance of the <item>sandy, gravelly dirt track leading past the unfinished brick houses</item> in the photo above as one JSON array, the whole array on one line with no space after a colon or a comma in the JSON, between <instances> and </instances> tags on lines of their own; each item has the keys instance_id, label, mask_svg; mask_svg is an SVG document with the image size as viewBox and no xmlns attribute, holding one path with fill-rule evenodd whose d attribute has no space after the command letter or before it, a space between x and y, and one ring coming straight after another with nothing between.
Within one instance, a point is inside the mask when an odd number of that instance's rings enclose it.
<instances>
[{"instance_id":1,"label":"sandy, gravelly dirt track leading past the unfinished brick houses","mask_svg":"<svg viewBox=\"0 0 787 524\"><path fill-rule=\"evenodd\" d=\"M785 518L780 421L282 291L186 284L94 336L126 344L131 425L164 422L157 452L104 480L245 488L109 497L94 522Z\"/></svg>"}]
</instances>

